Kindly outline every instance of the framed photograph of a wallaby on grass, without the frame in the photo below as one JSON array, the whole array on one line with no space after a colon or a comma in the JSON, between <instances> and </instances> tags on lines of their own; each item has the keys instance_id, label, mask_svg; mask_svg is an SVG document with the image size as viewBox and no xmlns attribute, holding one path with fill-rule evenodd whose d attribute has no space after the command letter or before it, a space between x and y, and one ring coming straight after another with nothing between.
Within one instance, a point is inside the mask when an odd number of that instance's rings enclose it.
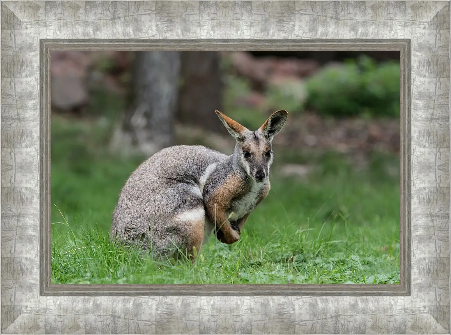
<instances>
[{"instance_id":1,"label":"framed photograph of a wallaby on grass, without the frame","mask_svg":"<svg viewBox=\"0 0 451 335\"><path fill-rule=\"evenodd\" d=\"M400 284L400 53L52 51L52 284Z\"/></svg>"}]
</instances>

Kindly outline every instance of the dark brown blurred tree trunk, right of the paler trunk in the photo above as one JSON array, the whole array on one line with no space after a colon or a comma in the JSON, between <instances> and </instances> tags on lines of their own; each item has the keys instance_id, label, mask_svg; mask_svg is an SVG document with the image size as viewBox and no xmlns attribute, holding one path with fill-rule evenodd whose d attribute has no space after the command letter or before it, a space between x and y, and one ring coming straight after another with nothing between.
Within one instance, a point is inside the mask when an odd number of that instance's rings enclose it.
<instances>
[{"instance_id":1,"label":"dark brown blurred tree trunk, right of the paler trunk","mask_svg":"<svg viewBox=\"0 0 451 335\"><path fill-rule=\"evenodd\" d=\"M222 111L222 75L217 51L182 51L177 118L180 122L224 132L215 110Z\"/></svg>"}]
</instances>

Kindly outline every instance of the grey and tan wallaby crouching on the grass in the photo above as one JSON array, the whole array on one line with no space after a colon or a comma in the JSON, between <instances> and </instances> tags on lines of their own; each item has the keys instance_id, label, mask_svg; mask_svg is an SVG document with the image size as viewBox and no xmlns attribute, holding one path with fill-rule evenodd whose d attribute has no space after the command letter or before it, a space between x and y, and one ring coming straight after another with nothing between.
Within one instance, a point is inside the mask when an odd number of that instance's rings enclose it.
<instances>
[{"instance_id":1,"label":"grey and tan wallaby crouching on the grass","mask_svg":"<svg viewBox=\"0 0 451 335\"><path fill-rule=\"evenodd\" d=\"M288 116L273 113L255 131L216 115L235 139L230 156L201 145L162 149L129 177L113 212L110 238L150 249L152 256L194 260L206 237L239 240L249 214L269 192L272 139Z\"/></svg>"}]
</instances>

